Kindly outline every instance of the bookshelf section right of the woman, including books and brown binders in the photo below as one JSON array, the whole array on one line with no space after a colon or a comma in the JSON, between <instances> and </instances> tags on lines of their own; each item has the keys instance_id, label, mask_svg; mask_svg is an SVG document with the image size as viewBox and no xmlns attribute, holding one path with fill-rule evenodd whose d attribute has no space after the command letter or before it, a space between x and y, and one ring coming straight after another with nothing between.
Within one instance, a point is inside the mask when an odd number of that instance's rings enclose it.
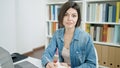
<instances>
[{"instance_id":1,"label":"bookshelf section right of the woman, including books and brown binders","mask_svg":"<svg viewBox=\"0 0 120 68\"><path fill-rule=\"evenodd\" d=\"M120 0L87 0L84 28L93 38L99 64L120 68Z\"/></svg>"}]
</instances>

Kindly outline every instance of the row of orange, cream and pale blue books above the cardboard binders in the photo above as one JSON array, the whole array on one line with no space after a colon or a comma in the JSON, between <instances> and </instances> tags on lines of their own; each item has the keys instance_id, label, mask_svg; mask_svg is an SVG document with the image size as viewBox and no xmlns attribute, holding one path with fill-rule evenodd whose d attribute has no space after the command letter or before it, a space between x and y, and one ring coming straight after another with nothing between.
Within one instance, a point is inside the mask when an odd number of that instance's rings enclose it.
<instances>
[{"instance_id":1,"label":"row of orange, cream and pale blue books above the cardboard binders","mask_svg":"<svg viewBox=\"0 0 120 68\"><path fill-rule=\"evenodd\" d=\"M87 24L86 31L94 41L120 44L120 25Z\"/></svg>"}]
</instances>

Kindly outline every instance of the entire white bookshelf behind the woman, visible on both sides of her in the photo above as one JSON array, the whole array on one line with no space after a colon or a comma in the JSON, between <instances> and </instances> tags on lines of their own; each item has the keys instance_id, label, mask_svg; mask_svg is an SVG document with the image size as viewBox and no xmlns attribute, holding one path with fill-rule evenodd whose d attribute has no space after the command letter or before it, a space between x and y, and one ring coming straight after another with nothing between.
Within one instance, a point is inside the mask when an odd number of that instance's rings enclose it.
<instances>
[{"instance_id":1,"label":"entire white bookshelf behind the woman, visible on both sides of her","mask_svg":"<svg viewBox=\"0 0 120 68\"><path fill-rule=\"evenodd\" d=\"M47 47L54 31L59 29L58 21L55 18L59 13L59 8L66 1L49 0L47 4L48 19L45 47ZM80 28L87 31L93 38L99 64L102 65L100 67L120 68L120 0L77 0L75 2L81 8L82 21ZM51 6L57 6L57 9L54 8L55 11L52 11ZM55 15L52 15L51 12L54 12Z\"/></svg>"}]
</instances>

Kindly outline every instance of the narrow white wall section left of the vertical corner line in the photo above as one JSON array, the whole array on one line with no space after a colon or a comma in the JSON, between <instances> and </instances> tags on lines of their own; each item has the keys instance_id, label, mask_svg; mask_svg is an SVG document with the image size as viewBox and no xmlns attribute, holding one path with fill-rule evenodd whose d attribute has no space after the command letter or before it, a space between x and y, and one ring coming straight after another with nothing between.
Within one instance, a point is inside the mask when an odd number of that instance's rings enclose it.
<instances>
[{"instance_id":1,"label":"narrow white wall section left of the vertical corner line","mask_svg":"<svg viewBox=\"0 0 120 68\"><path fill-rule=\"evenodd\" d=\"M0 46L16 51L15 1L0 0Z\"/></svg>"}]
</instances>

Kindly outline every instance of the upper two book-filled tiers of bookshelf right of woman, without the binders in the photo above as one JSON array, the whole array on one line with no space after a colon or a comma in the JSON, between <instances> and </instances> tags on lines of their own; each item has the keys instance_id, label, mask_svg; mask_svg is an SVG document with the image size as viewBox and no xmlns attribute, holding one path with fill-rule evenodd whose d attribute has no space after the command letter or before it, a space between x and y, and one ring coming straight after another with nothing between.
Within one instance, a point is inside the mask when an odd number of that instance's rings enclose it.
<instances>
[{"instance_id":1,"label":"upper two book-filled tiers of bookshelf right of woman, without the binders","mask_svg":"<svg viewBox=\"0 0 120 68\"><path fill-rule=\"evenodd\" d=\"M95 43L120 45L120 1L87 0L85 30L91 34ZM102 40L100 41L102 34ZM99 37L98 37L99 35ZM99 39L99 40L98 40ZM111 40L111 41L110 41Z\"/></svg>"}]
</instances>

